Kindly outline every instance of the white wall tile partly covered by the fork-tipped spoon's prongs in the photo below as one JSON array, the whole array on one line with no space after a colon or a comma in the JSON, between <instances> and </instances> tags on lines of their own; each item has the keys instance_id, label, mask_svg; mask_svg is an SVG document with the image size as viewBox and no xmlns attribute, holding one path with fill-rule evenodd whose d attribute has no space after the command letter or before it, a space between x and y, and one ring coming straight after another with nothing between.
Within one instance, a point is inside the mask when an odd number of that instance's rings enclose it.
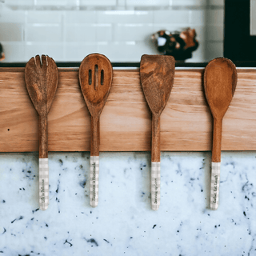
<instances>
[{"instance_id":1,"label":"white wall tile partly covered by the fork-tipped spoon's prongs","mask_svg":"<svg viewBox=\"0 0 256 256\"><path fill-rule=\"evenodd\" d=\"M62 43L41 43L33 42L26 44L26 60L36 56L37 54L48 55L53 58L55 62L64 61L64 51Z\"/></svg>"}]
</instances>

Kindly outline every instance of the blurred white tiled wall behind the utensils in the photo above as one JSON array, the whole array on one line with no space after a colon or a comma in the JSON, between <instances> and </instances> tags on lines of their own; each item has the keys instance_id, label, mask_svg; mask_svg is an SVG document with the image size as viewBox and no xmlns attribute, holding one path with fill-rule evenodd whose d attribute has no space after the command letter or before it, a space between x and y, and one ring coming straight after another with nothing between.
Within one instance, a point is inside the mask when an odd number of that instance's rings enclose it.
<instances>
[{"instance_id":1,"label":"blurred white tiled wall behind the utensils","mask_svg":"<svg viewBox=\"0 0 256 256\"><path fill-rule=\"evenodd\" d=\"M223 54L223 2L5 0L0 3L0 42L5 62L27 62L36 54L81 62L94 52L111 62L139 62L142 54L157 54L150 34L190 26L200 46L189 62L206 62Z\"/></svg>"}]
</instances>

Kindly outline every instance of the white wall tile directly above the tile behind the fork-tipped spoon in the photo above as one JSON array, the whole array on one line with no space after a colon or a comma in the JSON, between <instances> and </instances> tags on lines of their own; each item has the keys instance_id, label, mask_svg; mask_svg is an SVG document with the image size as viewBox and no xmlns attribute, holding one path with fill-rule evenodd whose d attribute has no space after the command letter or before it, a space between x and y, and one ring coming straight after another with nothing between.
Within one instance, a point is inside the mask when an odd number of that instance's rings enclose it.
<instances>
[{"instance_id":1,"label":"white wall tile directly above the tile behind the fork-tipped spoon","mask_svg":"<svg viewBox=\"0 0 256 256\"><path fill-rule=\"evenodd\" d=\"M40 24L39 24L40 25ZM26 27L26 41L27 42L61 42L62 28L56 26L27 26Z\"/></svg>"}]
</instances>

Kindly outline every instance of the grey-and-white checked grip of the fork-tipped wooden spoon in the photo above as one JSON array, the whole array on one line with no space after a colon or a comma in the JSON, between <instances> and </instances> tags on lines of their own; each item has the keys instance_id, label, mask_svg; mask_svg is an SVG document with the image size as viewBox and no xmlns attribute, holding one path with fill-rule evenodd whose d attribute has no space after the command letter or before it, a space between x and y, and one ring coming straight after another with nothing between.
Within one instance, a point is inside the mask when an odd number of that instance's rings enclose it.
<instances>
[{"instance_id":1,"label":"grey-and-white checked grip of the fork-tipped wooden spoon","mask_svg":"<svg viewBox=\"0 0 256 256\"><path fill-rule=\"evenodd\" d=\"M39 207L46 210L49 205L48 158L39 158Z\"/></svg>"}]
</instances>

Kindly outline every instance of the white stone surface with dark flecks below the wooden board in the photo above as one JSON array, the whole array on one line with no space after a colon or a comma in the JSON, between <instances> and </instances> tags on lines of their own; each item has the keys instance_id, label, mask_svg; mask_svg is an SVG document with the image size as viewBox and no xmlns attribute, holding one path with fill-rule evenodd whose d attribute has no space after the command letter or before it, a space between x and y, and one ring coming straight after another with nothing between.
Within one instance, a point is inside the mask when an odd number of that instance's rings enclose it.
<instances>
[{"instance_id":1,"label":"white stone surface with dark flecks below the wooden board","mask_svg":"<svg viewBox=\"0 0 256 256\"><path fill-rule=\"evenodd\" d=\"M161 205L150 209L150 152L50 153L50 206L38 206L38 153L0 154L0 255L256 255L256 152L222 152L210 210L210 152L162 152Z\"/></svg>"}]
</instances>

